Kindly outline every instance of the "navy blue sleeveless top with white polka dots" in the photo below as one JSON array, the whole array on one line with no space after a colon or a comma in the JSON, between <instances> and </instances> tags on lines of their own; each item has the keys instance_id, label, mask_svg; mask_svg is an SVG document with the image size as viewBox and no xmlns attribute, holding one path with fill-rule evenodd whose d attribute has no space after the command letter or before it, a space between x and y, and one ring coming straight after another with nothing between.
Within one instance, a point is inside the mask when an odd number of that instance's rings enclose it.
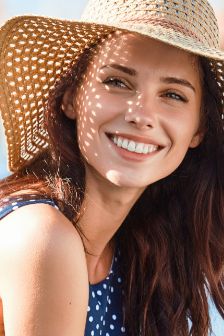
<instances>
[{"instance_id":1,"label":"navy blue sleeveless top with white polka dots","mask_svg":"<svg viewBox=\"0 0 224 336\"><path fill-rule=\"evenodd\" d=\"M29 195L30 197L30 195ZM24 199L16 197L0 208L0 219L7 216L19 207L45 203L58 209L50 199L33 198ZM85 336L124 336L127 335L122 321L122 278L119 274L120 251L117 248L113 257L112 265L108 276L103 281L89 285L89 303L87 309L87 320Z\"/></svg>"}]
</instances>

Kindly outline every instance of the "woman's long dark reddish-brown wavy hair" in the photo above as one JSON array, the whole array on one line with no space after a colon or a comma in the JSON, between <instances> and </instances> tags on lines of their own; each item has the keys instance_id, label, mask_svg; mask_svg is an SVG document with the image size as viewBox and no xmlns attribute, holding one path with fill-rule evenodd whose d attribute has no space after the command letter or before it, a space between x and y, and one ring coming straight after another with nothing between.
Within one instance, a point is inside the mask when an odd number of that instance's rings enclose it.
<instances>
[{"instance_id":1,"label":"woman's long dark reddish-brown wavy hair","mask_svg":"<svg viewBox=\"0 0 224 336\"><path fill-rule=\"evenodd\" d=\"M49 148L0 185L1 199L22 192L24 185L54 199L76 228L85 169L75 121L63 113L62 99L68 87L79 87L95 50L86 49L50 94ZM203 141L171 175L145 190L114 237L130 336L208 335L209 295L224 318L223 106L209 62L199 58L199 63Z\"/></svg>"}]
</instances>

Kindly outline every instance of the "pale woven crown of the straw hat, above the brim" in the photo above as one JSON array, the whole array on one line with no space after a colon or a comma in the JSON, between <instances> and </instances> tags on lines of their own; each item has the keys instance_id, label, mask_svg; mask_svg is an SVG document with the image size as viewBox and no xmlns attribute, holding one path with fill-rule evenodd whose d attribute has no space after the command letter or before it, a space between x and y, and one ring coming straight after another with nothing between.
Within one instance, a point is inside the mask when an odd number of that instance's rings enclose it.
<instances>
[{"instance_id":1,"label":"pale woven crown of the straw hat, above the brim","mask_svg":"<svg viewBox=\"0 0 224 336\"><path fill-rule=\"evenodd\" d=\"M206 47L219 46L219 29L207 0L89 0L82 21L131 30L132 25L162 26Z\"/></svg>"}]
</instances>

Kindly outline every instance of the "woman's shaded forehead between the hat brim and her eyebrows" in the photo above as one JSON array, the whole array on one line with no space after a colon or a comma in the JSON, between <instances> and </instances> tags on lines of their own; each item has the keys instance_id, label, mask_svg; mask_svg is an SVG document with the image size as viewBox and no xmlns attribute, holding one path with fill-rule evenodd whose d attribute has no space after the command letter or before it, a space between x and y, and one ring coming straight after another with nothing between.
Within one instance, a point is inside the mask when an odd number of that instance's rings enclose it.
<instances>
[{"instance_id":1,"label":"woman's shaded forehead between the hat brim and her eyebrows","mask_svg":"<svg viewBox=\"0 0 224 336\"><path fill-rule=\"evenodd\" d=\"M138 66L170 66L185 70L199 69L198 57L180 48L168 45L138 33L116 32L98 47L93 64L98 67L105 63L133 63Z\"/></svg>"}]
</instances>

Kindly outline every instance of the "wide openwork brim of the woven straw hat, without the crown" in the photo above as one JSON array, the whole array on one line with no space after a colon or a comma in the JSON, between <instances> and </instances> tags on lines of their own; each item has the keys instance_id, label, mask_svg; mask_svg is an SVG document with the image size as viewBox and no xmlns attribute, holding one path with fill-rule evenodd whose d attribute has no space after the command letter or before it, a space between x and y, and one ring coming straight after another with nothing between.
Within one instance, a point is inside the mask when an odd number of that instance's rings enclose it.
<instances>
[{"instance_id":1,"label":"wide openwork brim of the woven straw hat, without the crown","mask_svg":"<svg viewBox=\"0 0 224 336\"><path fill-rule=\"evenodd\" d=\"M0 30L1 114L11 171L17 171L48 146L44 109L61 74L85 48L117 29L209 58L224 91L224 52L206 47L179 29L154 23L110 26L41 16L15 17Z\"/></svg>"}]
</instances>

